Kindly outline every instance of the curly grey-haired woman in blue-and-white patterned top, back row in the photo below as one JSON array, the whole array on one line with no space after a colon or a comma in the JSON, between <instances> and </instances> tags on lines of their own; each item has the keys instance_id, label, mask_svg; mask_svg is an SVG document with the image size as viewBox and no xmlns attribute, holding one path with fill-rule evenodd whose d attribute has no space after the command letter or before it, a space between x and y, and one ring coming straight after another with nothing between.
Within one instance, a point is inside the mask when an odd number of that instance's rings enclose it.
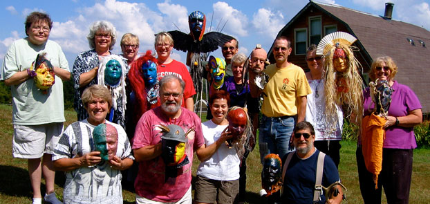
<instances>
[{"instance_id":1,"label":"curly grey-haired woman in blue-and-white patterned top, back row","mask_svg":"<svg viewBox=\"0 0 430 204\"><path fill-rule=\"evenodd\" d=\"M74 107L77 112L77 120L88 118L88 113L82 104L82 92L89 86L97 84L100 63L105 57L110 57L116 37L116 29L109 21L95 21L90 27L90 33L86 39L88 39L91 50L77 55L73 64ZM126 75L127 73L122 74ZM121 102L116 105L117 109L123 109Z\"/></svg>"}]
</instances>

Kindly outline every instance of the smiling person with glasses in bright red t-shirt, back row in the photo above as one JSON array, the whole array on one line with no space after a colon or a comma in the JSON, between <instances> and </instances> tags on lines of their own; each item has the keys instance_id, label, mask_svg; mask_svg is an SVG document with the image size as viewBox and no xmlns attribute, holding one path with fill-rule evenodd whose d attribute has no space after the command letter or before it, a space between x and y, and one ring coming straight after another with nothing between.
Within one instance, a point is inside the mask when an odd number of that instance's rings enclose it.
<instances>
[{"instance_id":1,"label":"smiling person with glasses in bright red t-shirt, back row","mask_svg":"<svg viewBox=\"0 0 430 204\"><path fill-rule=\"evenodd\" d=\"M185 64L171 59L170 53L174 48L174 39L167 32L161 32L156 35L154 44L158 59L158 80L161 80L165 75L174 74L185 82L185 90L183 95L182 106L190 111L194 111L193 95L196 94L193 80L187 70Z\"/></svg>"}]
</instances>

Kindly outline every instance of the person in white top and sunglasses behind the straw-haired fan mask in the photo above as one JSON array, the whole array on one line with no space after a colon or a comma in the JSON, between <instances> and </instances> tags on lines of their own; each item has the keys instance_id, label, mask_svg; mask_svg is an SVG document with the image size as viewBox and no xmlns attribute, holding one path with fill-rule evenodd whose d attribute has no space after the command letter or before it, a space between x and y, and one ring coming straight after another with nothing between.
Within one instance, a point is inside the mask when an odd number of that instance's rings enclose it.
<instances>
[{"instance_id":1,"label":"person in white top and sunglasses behind the straw-haired fan mask","mask_svg":"<svg viewBox=\"0 0 430 204\"><path fill-rule=\"evenodd\" d=\"M315 147L324 152L339 166L340 160L340 140L342 139L342 127L344 125L344 114L342 108L337 106L337 121L335 126L328 125L326 122L326 97L324 94L324 80L321 75L324 69L324 56L317 55L317 46L312 44L306 52L306 64L309 72L306 78L312 89L306 101L305 120L315 127Z\"/></svg>"}]
</instances>

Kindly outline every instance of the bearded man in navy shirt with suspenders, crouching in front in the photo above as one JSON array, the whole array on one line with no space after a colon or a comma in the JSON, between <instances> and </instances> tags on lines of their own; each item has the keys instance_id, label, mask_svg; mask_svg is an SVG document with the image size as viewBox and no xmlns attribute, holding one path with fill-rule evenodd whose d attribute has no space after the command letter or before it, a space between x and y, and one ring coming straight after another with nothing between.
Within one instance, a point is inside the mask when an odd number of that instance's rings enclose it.
<instances>
[{"instance_id":1,"label":"bearded man in navy shirt with suspenders, crouching in front","mask_svg":"<svg viewBox=\"0 0 430 204\"><path fill-rule=\"evenodd\" d=\"M312 203L317 185L318 163L324 161L321 183L324 187L339 181L339 173L330 156L325 156L314 147L315 130L312 124L303 121L296 124L292 143L296 151L287 154L283 160L282 203ZM320 159L321 157L321 159ZM320 160L320 161L319 161ZM342 189L338 186L336 198L342 200ZM341 195L339 198L339 194ZM326 203L324 194L317 194L316 203Z\"/></svg>"}]
</instances>

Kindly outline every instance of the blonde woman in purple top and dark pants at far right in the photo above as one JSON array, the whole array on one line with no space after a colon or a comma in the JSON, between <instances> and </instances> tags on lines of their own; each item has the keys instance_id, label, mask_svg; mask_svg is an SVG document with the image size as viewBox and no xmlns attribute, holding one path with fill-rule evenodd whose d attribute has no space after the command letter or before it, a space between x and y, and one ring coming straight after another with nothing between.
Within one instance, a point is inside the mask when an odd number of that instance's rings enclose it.
<instances>
[{"instance_id":1,"label":"blonde woman in purple top and dark pants at far right","mask_svg":"<svg viewBox=\"0 0 430 204\"><path fill-rule=\"evenodd\" d=\"M391 57L375 59L369 72L371 80L386 80L393 93L388 116L386 117L385 140L382 150L382 171L377 180L377 189L373 174L367 171L361 148L357 148L357 167L359 185L364 203L381 203L382 187L388 203L408 203L411 187L413 149L417 147L413 127L422 121L421 104L417 96L406 85L394 81L398 67ZM373 112L369 88L364 90L364 116Z\"/></svg>"}]
</instances>

